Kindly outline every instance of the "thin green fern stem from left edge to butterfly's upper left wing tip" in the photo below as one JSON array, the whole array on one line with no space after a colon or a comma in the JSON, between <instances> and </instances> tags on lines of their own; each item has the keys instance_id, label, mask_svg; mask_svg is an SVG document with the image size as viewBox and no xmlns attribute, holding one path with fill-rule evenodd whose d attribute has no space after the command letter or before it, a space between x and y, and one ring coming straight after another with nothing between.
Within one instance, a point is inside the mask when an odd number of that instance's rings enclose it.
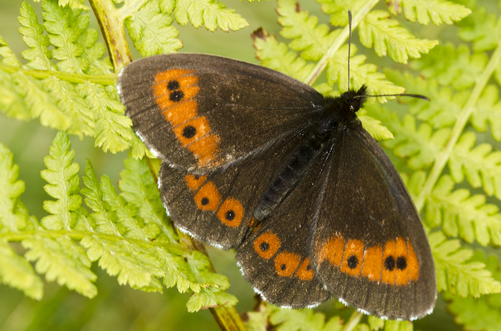
<instances>
[{"instance_id":1,"label":"thin green fern stem from left edge to butterfly's upper left wing tip","mask_svg":"<svg viewBox=\"0 0 501 331\"><path fill-rule=\"evenodd\" d=\"M116 74L85 74L85 73L72 73L72 72L63 72L54 70L35 70L35 69L24 69L22 67L16 67L4 64L0 64L0 69L9 73L20 71L32 77L40 79L55 76L61 80L66 80L71 83L84 83L86 81L91 81L102 85L113 85L117 80Z\"/></svg>"}]
</instances>

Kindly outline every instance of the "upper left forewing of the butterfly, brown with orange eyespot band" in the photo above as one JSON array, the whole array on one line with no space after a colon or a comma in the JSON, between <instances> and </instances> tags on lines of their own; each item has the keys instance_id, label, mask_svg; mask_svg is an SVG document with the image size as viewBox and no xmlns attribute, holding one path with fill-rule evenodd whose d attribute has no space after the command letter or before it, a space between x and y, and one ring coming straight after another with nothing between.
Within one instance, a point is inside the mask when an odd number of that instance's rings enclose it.
<instances>
[{"instance_id":1,"label":"upper left forewing of the butterfly, brown with orange eyespot band","mask_svg":"<svg viewBox=\"0 0 501 331\"><path fill-rule=\"evenodd\" d=\"M278 71L195 53L135 60L118 87L147 146L198 173L248 157L304 125L322 97Z\"/></svg>"}]
</instances>

